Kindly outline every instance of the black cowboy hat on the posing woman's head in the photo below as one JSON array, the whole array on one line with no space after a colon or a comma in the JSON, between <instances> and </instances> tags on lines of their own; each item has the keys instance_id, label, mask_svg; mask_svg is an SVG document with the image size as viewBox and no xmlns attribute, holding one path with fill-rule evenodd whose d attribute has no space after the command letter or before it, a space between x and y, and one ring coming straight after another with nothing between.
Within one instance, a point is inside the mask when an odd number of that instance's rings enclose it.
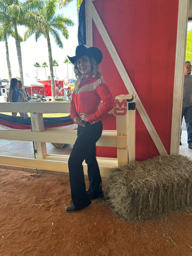
<instances>
[{"instance_id":1,"label":"black cowboy hat on the posing woman's head","mask_svg":"<svg viewBox=\"0 0 192 256\"><path fill-rule=\"evenodd\" d=\"M102 52L97 48L97 47L85 47L84 45L78 45L76 47L75 51L75 56L74 57L68 57L71 63L75 65L75 62L77 62L77 59L82 57L82 56L88 56L88 57L93 57L95 61L97 62L97 65L102 60Z\"/></svg>"}]
</instances>

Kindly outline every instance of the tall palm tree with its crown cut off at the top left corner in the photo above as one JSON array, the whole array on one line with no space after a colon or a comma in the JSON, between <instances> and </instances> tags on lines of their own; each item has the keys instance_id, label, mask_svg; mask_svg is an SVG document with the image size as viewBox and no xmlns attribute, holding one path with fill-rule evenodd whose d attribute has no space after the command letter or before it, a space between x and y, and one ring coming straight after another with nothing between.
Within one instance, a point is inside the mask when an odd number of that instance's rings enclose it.
<instances>
[{"instance_id":1,"label":"tall palm tree with its crown cut off at the top left corner","mask_svg":"<svg viewBox=\"0 0 192 256\"><path fill-rule=\"evenodd\" d=\"M17 49L18 62L19 62L19 73L20 79L23 83L23 70L22 70L22 56L21 56L21 46L20 46L20 38L18 34L17 25L24 25L26 22L26 14L30 10L34 10L41 4L43 5L43 1L41 0L0 0L0 22L3 21L3 15L7 15L7 20L10 21L10 26L14 29L14 38L15 45Z\"/></svg>"}]
</instances>

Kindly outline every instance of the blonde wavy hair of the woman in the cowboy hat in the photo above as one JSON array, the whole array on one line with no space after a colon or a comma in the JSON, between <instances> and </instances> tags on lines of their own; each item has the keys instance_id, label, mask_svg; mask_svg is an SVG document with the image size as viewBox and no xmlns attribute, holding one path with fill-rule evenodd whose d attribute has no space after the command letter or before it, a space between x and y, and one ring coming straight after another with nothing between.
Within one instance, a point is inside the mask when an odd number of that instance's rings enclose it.
<instances>
[{"instance_id":1,"label":"blonde wavy hair of the woman in the cowboy hat","mask_svg":"<svg viewBox=\"0 0 192 256\"><path fill-rule=\"evenodd\" d=\"M92 77L102 77L101 76L101 71L97 65L97 62L95 61L95 59L93 57L89 57L90 62L91 62L91 67L92 67ZM82 81L82 74L81 72L79 72L78 68L77 68L77 62L74 65L74 73L75 73L75 77L77 78L76 82L75 82L75 88L78 88L81 81Z\"/></svg>"}]
</instances>

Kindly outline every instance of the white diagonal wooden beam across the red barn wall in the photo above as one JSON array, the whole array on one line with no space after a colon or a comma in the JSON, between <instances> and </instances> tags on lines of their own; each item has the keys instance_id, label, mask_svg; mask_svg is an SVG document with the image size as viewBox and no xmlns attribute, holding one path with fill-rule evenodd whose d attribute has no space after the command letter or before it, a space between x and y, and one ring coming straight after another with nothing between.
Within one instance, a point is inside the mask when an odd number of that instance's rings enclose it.
<instances>
[{"instance_id":1,"label":"white diagonal wooden beam across the red barn wall","mask_svg":"<svg viewBox=\"0 0 192 256\"><path fill-rule=\"evenodd\" d=\"M107 49L109 51L109 54L111 55L111 58L113 59L115 65L117 67L119 74L121 75L121 77L123 79L123 82L126 86L127 91L130 94L137 94L137 98L136 98L137 110L142 118L143 123L145 124L151 138L153 139L155 146L157 147L157 149L159 151L159 154L161 156L166 156L167 155L166 149L163 146L163 143L162 143L161 139L159 138L159 136L155 130L155 127L153 126L152 122L150 121L150 118L147 115L147 112L146 112L145 108L143 107L142 102L138 96L138 93L135 91L134 86L133 86L128 74L126 73L123 63L122 63L121 59L119 58L119 55L118 55L113 43L111 42L111 39L110 39L110 37L107 33L107 30L104 27L104 25L99 17L97 10L95 9L91 0L87 0L87 1L90 2L90 7L91 7L90 12L92 14L92 19L93 19L95 25L97 26L97 29L98 29Z\"/></svg>"}]
</instances>

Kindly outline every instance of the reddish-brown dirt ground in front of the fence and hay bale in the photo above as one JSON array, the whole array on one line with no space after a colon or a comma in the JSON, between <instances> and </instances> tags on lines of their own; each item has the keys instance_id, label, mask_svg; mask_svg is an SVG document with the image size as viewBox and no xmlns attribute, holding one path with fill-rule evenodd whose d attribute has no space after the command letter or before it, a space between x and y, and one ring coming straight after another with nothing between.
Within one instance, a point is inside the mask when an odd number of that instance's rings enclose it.
<instances>
[{"instance_id":1,"label":"reddish-brown dirt ground in front of the fence and hay bale","mask_svg":"<svg viewBox=\"0 0 192 256\"><path fill-rule=\"evenodd\" d=\"M68 174L0 167L2 256L192 255L191 214L137 224L120 220L103 201L66 213Z\"/></svg>"}]
</instances>

